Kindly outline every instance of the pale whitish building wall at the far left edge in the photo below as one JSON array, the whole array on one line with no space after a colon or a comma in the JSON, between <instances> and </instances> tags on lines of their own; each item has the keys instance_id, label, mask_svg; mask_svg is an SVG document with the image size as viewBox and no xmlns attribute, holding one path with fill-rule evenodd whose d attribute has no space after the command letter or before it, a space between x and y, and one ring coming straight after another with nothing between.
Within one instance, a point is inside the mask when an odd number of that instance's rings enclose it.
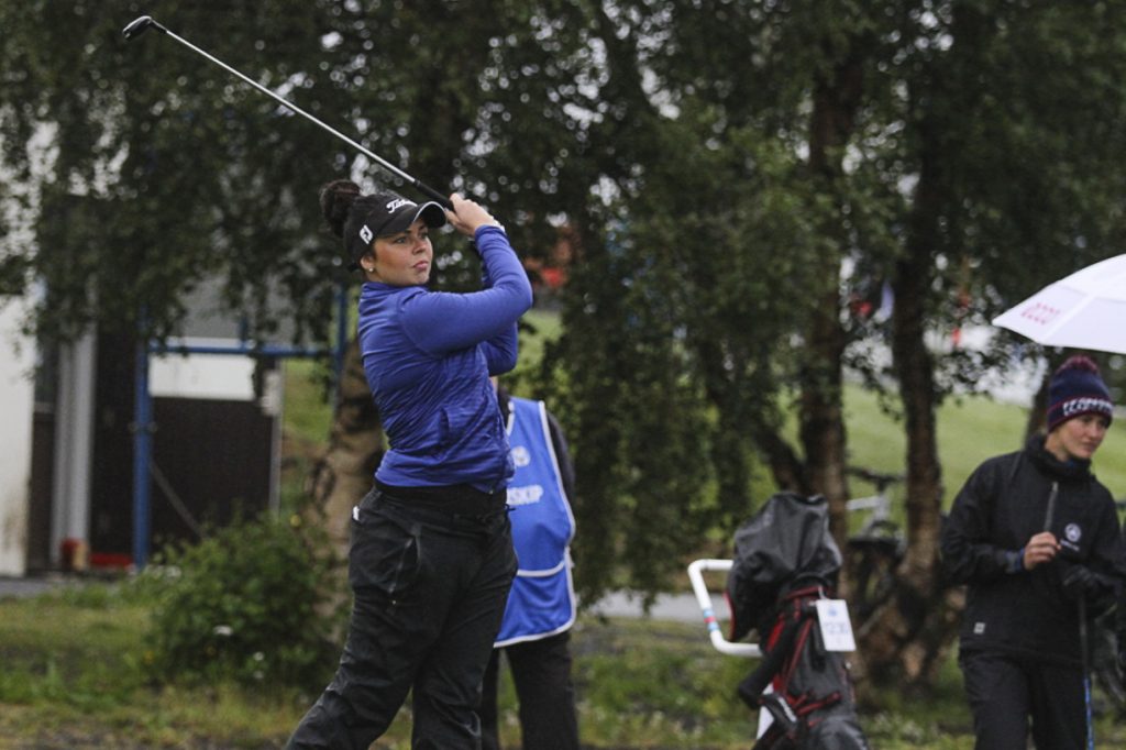
<instances>
[{"instance_id":1,"label":"pale whitish building wall at the far left edge","mask_svg":"<svg viewBox=\"0 0 1126 750\"><path fill-rule=\"evenodd\" d=\"M23 575L27 565L35 342L19 333L24 313L0 297L0 575Z\"/></svg>"}]
</instances>

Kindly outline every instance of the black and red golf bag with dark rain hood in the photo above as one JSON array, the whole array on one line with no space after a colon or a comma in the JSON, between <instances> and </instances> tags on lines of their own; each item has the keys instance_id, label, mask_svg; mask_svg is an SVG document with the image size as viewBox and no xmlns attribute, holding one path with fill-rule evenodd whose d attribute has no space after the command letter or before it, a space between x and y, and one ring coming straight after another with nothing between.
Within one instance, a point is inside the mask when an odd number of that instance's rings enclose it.
<instances>
[{"instance_id":1,"label":"black and red golf bag with dark rain hood","mask_svg":"<svg viewBox=\"0 0 1126 750\"><path fill-rule=\"evenodd\" d=\"M739 696L772 718L754 750L868 750L844 654L825 649L817 619L841 562L820 495L779 492L735 533L730 640L757 630L763 653Z\"/></svg>"}]
</instances>

